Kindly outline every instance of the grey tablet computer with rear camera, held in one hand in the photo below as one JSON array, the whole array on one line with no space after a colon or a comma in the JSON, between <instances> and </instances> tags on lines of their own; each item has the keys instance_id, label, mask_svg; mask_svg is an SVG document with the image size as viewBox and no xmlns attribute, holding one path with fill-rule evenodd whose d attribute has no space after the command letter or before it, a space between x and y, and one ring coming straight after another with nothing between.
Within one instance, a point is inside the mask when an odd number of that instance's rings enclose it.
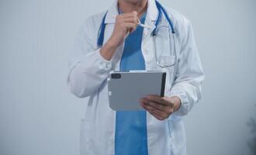
<instances>
[{"instance_id":1,"label":"grey tablet computer with rear camera, held in one hand","mask_svg":"<svg viewBox=\"0 0 256 155\"><path fill-rule=\"evenodd\" d=\"M115 111L144 110L140 98L164 96L163 71L111 71L107 78L109 107Z\"/></svg>"}]
</instances>

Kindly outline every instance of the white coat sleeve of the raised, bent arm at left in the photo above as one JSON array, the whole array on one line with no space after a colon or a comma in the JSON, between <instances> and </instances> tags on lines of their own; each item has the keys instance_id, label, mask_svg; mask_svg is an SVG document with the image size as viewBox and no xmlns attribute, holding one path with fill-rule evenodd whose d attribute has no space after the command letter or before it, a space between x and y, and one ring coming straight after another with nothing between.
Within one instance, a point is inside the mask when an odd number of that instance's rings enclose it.
<instances>
[{"instance_id":1,"label":"white coat sleeve of the raised, bent arm at left","mask_svg":"<svg viewBox=\"0 0 256 155\"><path fill-rule=\"evenodd\" d=\"M69 54L67 87L78 98L85 98L99 90L112 68L112 60L99 53L95 39L96 26L92 18L85 20Z\"/></svg>"}]
</instances>

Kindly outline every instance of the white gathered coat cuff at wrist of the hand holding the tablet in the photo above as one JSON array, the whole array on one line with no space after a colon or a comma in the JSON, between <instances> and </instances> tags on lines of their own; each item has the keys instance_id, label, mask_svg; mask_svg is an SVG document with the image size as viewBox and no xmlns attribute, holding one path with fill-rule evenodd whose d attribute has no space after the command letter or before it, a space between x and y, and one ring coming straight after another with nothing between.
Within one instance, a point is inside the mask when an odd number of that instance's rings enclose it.
<instances>
[{"instance_id":1,"label":"white gathered coat cuff at wrist of the hand holding the tablet","mask_svg":"<svg viewBox=\"0 0 256 155\"><path fill-rule=\"evenodd\" d=\"M189 99L187 97L187 95L185 95L184 92L182 91L171 91L168 95L168 97L173 97L173 96L177 96L178 98L181 99L181 105L180 107L178 108L177 111L173 112L171 114L171 116L173 118L175 117L181 117L183 115L186 115L188 113L188 105L189 105Z\"/></svg>"}]
</instances>

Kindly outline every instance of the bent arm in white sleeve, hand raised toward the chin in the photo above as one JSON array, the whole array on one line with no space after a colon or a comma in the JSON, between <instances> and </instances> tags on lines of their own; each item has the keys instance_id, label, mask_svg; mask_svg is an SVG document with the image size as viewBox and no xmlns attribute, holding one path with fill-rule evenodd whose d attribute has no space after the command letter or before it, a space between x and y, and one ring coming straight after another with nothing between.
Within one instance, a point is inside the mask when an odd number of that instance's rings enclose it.
<instances>
[{"instance_id":1,"label":"bent arm in white sleeve, hand raised toward the chin","mask_svg":"<svg viewBox=\"0 0 256 155\"><path fill-rule=\"evenodd\" d=\"M85 21L78 33L68 63L67 86L75 96L85 98L99 90L112 70L113 53L123 43L127 30L136 29L136 19L137 12L117 15L112 36L101 48L95 47L97 40L95 34L98 33L99 28L95 28L92 17Z\"/></svg>"}]
</instances>

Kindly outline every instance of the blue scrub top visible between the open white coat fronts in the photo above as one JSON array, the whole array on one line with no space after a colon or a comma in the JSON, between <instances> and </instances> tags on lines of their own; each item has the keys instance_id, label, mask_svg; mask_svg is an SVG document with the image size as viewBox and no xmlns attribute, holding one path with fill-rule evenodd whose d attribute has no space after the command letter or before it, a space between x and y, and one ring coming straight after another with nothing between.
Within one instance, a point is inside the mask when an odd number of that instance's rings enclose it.
<instances>
[{"instance_id":1,"label":"blue scrub top visible between the open white coat fronts","mask_svg":"<svg viewBox=\"0 0 256 155\"><path fill-rule=\"evenodd\" d=\"M119 13L122 13L119 9ZM147 12L140 18L144 23ZM143 27L130 33L124 42L120 71L145 70L141 51ZM147 155L146 111L117 111L115 132L115 155Z\"/></svg>"}]
</instances>

